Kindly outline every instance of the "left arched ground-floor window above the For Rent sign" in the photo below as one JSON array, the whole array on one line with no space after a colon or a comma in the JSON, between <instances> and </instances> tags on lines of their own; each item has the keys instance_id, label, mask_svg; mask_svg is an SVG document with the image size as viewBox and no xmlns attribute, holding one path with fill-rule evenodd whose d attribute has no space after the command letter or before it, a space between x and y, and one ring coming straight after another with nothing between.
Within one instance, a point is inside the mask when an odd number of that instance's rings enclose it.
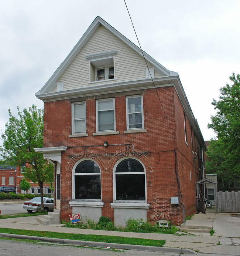
<instances>
[{"instance_id":1,"label":"left arched ground-floor window above the For Rent sign","mask_svg":"<svg viewBox=\"0 0 240 256\"><path fill-rule=\"evenodd\" d=\"M101 199L101 172L96 162L81 161L74 170L75 199Z\"/></svg>"}]
</instances>

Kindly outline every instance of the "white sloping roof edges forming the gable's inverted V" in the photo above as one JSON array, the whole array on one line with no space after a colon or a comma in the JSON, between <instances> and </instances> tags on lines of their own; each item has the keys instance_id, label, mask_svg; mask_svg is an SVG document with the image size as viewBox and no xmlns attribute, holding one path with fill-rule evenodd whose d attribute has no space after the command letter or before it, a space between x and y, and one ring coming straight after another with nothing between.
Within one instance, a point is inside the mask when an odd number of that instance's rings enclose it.
<instances>
[{"instance_id":1,"label":"white sloping roof edges forming the gable's inverted V","mask_svg":"<svg viewBox=\"0 0 240 256\"><path fill-rule=\"evenodd\" d=\"M80 38L78 43L73 47L72 51L68 54L68 56L65 58L65 60L61 63L61 65L57 68L57 70L54 72L54 74L49 78L49 80L46 82L46 84L42 87L42 89L35 93L37 98L40 98L43 100L41 96L43 94L51 92L51 90L56 86L56 81L61 77L61 75L66 71L66 69L69 67L69 65L72 63L72 61L75 59L75 57L79 54L79 52L82 50L82 48L86 45L88 40L93 36L93 34L96 32L97 28L100 26L104 26L107 28L110 32L112 32L116 37L118 37L120 40L122 40L124 43L126 43L130 48L132 48L136 53L140 54L141 56L142 51L139 47L137 47L134 43L132 43L130 40L128 40L126 37L124 37L119 31L117 31L114 27L112 27L110 24L108 24L106 21L104 21L101 17L97 16L95 20L92 22L92 24L89 26L89 28L86 30L86 32L83 34L83 36ZM145 59L151 63L155 70L157 70L159 73L161 73L163 76L169 77L170 75L178 75L178 73L169 71L167 68L162 66L160 63L158 63L154 58L152 58L147 53L144 53Z\"/></svg>"}]
</instances>

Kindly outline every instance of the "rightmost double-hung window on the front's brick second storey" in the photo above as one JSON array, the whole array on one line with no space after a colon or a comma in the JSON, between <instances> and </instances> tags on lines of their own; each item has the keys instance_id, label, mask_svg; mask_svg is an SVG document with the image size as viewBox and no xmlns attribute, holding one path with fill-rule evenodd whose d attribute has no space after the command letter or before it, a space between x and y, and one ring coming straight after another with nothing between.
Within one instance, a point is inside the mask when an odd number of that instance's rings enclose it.
<instances>
[{"instance_id":1,"label":"rightmost double-hung window on the front's brick second storey","mask_svg":"<svg viewBox=\"0 0 240 256\"><path fill-rule=\"evenodd\" d=\"M143 96L126 97L127 130L144 129Z\"/></svg>"}]
</instances>

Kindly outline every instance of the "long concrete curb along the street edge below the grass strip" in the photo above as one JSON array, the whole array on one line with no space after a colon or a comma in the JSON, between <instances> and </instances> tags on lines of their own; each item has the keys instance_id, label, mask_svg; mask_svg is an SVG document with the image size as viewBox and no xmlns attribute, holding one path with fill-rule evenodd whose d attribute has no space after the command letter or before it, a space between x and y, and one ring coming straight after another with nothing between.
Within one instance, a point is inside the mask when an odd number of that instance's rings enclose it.
<instances>
[{"instance_id":1,"label":"long concrete curb along the street edge below the grass strip","mask_svg":"<svg viewBox=\"0 0 240 256\"><path fill-rule=\"evenodd\" d=\"M115 249L128 249L128 250L143 250L151 252L170 252L170 253L188 253L192 255L198 255L195 251L191 249L181 249L175 247L155 247L155 246L145 246L145 245L126 245L120 243L103 243L103 242L92 242L92 241L82 241L82 240L71 240L71 239L60 239L60 238L44 238L40 236L26 236L26 235L16 235L8 233L0 233L1 237L6 238L16 238L16 239L31 239L40 240L43 242L51 243L65 243L69 245L87 245L95 247L111 247Z\"/></svg>"}]
</instances>

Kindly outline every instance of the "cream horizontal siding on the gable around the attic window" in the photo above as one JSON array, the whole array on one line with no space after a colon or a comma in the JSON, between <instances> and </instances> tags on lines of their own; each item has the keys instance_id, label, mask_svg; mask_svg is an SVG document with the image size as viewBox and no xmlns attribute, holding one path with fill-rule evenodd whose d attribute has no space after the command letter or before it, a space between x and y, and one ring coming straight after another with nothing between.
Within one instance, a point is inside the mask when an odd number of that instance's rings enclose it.
<instances>
[{"instance_id":1,"label":"cream horizontal siding on the gable around the attic window","mask_svg":"<svg viewBox=\"0 0 240 256\"><path fill-rule=\"evenodd\" d=\"M90 65L86 56L108 51L117 51L115 54L115 78L117 80L97 81L89 84ZM148 63L148 67L153 68L150 63ZM58 81L64 81L65 91L86 86L90 87L96 84L142 80L146 79L145 68L146 63L141 55L117 38L107 28L100 26ZM154 76L155 78L162 77L157 71L155 71ZM56 91L56 88L52 90L52 92L54 91Z\"/></svg>"}]
</instances>

